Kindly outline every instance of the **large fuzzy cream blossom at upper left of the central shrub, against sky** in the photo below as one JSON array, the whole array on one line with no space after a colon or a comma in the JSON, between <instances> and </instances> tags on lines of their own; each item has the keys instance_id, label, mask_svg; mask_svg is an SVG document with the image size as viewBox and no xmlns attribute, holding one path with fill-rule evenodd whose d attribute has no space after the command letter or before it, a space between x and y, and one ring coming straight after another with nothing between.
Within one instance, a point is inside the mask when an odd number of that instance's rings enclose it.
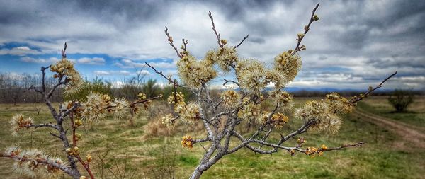
<instances>
[{"instance_id":1,"label":"large fuzzy cream blossom at upper left of the central shrub, against sky","mask_svg":"<svg viewBox=\"0 0 425 179\"><path fill-rule=\"evenodd\" d=\"M183 83L191 87L199 87L217 76L217 71L208 61L199 61L189 54L183 54L177 62L177 70Z\"/></svg>"}]
</instances>

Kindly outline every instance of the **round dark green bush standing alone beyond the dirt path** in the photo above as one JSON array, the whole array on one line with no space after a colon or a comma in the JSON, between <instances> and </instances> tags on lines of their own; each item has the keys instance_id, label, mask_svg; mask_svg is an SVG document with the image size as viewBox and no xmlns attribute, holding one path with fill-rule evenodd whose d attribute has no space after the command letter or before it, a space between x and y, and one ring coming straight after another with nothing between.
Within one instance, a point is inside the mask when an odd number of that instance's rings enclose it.
<instances>
[{"instance_id":1,"label":"round dark green bush standing alone beyond the dirt path","mask_svg":"<svg viewBox=\"0 0 425 179\"><path fill-rule=\"evenodd\" d=\"M395 108L396 112L404 112L413 103L412 91L396 89L388 98L388 102Z\"/></svg>"}]
</instances>

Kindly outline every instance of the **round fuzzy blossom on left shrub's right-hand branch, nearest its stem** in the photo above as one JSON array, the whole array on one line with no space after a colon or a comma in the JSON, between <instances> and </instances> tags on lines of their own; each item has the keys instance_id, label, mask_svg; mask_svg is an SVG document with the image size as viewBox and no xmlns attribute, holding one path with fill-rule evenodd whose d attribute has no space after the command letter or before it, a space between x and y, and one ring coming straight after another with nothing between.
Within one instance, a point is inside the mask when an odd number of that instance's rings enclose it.
<instances>
[{"instance_id":1,"label":"round fuzzy blossom on left shrub's right-hand branch, nearest its stem","mask_svg":"<svg viewBox=\"0 0 425 179\"><path fill-rule=\"evenodd\" d=\"M87 120L100 120L106 117L107 112L111 112L112 98L108 95L102 95L100 93L90 93L87 96L86 103L83 103L82 106L84 110L81 112L81 115L84 119Z\"/></svg>"}]
</instances>

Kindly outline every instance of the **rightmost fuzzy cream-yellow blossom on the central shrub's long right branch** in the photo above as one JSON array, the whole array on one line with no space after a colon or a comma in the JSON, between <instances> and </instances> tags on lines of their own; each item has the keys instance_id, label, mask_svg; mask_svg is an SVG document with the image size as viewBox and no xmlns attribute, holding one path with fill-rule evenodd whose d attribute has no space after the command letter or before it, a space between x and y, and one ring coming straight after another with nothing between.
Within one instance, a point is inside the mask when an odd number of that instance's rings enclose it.
<instances>
[{"instance_id":1,"label":"rightmost fuzzy cream-yellow blossom on the central shrub's long right branch","mask_svg":"<svg viewBox=\"0 0 425 179\"><path fill-rule=\"evenodd\" d=\"M353 111L353 105L347 98L339 96L339 93L329 93L324 100L329 105L329 110L334 114L346 114Z\"/></svg>"}]
</instances>

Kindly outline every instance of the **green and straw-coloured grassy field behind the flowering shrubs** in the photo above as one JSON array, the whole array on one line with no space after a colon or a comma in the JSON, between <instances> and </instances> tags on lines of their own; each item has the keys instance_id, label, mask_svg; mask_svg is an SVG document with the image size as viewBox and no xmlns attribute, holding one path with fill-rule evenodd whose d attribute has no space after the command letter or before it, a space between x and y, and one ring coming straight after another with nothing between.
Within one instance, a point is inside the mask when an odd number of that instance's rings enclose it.
<instances>
[{"instance_id":1,"label":"green and straw-coloured grassy field behind the flowering shrubs","mask_svg":"<svg viewBox=\"0 0 425 179\"><path fill-rule=\"evenodd\" d=\"M359 107L376 115L423 127L425 98L417 99L416 105L409 108L410 112L403 114L392 113L386 98L369 98ZM302 101L305 99L297 99L297 105ZM23 130L18 136L11 135L8 122L17 112L31 115L35 122L52 121L47 108L42 108L37 115L34 105L0 105L0 125L3 127L0 130L0 150L19 144L22 148L42 149L64 158L61 143L48 134L50 129ZM83 139L79 146L81 154L94 156L91 167L98 178L188 178L204 151L199 145L183 149L181 136L203 137L205 134L196 127L179 127L166 136L159 135L166 133L155 125L160 117L157 116L157 108L162 108L160 106L163 105L154 103L151 111L140 113L133 127L128 125L128 121L112 118L85 125L80 131ZM282 132L289 132L300 123L291 120ZM273 136L273 139L277 137ZM242 149L225 156L206 171L203 178L424 178L425 175L425 149L404 142L396 132L364 120L356 113L344 116L339 134L329 136L308 132L302 137L307 139L305 146L339 146L361 141L367 144L354 149L330 151L315 158L305 154L290 156L285 151L259 155ZM295 144L295 140L286 143L288 146ZM13 173L12 163L9 159L0 158L0 178L23 178Z\"/></svg>"}]
</instances>

